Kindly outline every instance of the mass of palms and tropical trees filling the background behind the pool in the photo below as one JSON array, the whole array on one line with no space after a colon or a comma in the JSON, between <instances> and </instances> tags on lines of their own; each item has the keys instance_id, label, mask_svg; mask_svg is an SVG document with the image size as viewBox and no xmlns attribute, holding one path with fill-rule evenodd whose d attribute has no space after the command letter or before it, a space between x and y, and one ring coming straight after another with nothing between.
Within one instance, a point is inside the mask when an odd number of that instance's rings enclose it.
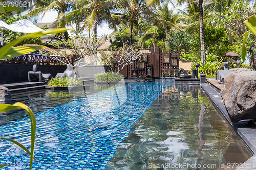
<instances>
[{"instance_id":1,"label":"mass of palms and tropical trees filling the background behind the pool","mask_svg":"<svg viewBox=\"0 0 256 170\"><path fill-rule=\"evenodd\" d=\"M185 5L185 8L174 12L177 10L170 8L171 3L176 7ZM255 13L255 7L242 0L38 0L27 16L44 15L49 10L58 13L59 26L72 26L77 36L86 30L87 37L93 36L97 42L97 28L108 23L114 29L110 35L114 37L112 47L122 47L123 42L129 41L135 48L167 48L181 53L183 60L197 60L203 65L212 55L220 62L227 60L223 57L227 52L241 55L239 46L247 30L243 21ZM69 41L69 37L65 37ZM255 65L254 38L249 34L244 44L251 66Z\"/></svg>"}]
</instances>

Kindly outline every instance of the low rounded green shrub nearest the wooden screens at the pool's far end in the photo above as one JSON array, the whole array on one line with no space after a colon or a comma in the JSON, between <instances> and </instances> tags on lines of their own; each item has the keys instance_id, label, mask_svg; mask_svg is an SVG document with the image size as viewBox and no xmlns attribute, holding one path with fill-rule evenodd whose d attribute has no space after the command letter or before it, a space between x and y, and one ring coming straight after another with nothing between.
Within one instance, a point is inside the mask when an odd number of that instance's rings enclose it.
<instances>
[{"instance_id":1,"label":"low rounded green shrub nearest the wooden screens at the pool's far end","mask_svg":"<svg viewBox=\"0 0 256 170\"><path fill-rule=\"evenodd\" d=\"M118 82L123 79L123 75L115 72L101 72L95 75L94 79L98 82Z\"/></svg>"}]
</instances>

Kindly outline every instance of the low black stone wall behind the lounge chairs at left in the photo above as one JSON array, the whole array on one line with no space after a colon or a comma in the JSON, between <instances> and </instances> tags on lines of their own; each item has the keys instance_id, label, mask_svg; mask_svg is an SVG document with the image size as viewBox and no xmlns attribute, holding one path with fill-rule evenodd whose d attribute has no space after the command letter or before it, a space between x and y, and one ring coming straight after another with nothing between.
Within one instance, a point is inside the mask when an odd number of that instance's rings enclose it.
<instances>
[{"instance_id":1,"label":"low black stone wall behind the lounge chairs at left","mask_svg":"<svg viewBox=\"0 0 256 170\"><path fill-rule=\"evenodd\" d=\"M33 65L29 64L0 64L0 84L27 82L28 71L32 71L32 68ZM38 65L37 71L50 73L55 77L66 68L66 65Z\"/></svg>"}]
</instances>

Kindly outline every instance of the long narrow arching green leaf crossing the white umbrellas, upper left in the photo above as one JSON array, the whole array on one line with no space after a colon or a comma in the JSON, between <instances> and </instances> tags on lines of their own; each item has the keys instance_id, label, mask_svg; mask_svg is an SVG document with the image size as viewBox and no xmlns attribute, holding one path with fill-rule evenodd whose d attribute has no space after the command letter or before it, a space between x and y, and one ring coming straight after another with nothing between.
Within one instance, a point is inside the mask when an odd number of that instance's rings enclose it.
<instances>
[{"instance_id":1,"label":"long narrow arching green leaf crossing the white umbrellas, upper left","mask_svg":"<svg viewBox=\"0 0 256 170\"><path fill-rule=\"evenodd\" d=\"M17 43L25 40L26 38L33 38L33 37L41 37L47 34L58 34L58 33L62 33L62 32L66 32L69 29L66 28L59 28L59 29L51 29L51 30L47 30L47 31L39 31L36 33L31 33L31 34L27 34L24 35L22 37L19 37L18 39L11 41L10 43L6 44L5 46L3 46L0 49L0 60L2 60L2 58L4 58L4 56L8 53L8 51L10 50L10 48L14 45L16 45Z\"/></svg>"}]
</instances>

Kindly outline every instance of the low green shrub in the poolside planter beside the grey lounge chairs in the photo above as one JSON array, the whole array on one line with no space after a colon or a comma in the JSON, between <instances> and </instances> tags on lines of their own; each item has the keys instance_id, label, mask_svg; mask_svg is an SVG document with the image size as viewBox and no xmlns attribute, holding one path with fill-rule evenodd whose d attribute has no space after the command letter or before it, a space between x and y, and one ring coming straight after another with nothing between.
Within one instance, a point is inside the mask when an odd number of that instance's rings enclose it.
<instances>
[{"instance_id":1,"label":"low green shrub in the poolside planter beside the grey lounge chairs","mask_svg":"<svg viewBox=\"0 0 256 170\"><path fill-rule=\"evenodd\" d=\"M64 86L83 86L82 81L75 80L74 78L57 78L57 79L51 79L50 82L47 83L47 85L52 87L64 87Z\"/></svg>"}]
</instances>

